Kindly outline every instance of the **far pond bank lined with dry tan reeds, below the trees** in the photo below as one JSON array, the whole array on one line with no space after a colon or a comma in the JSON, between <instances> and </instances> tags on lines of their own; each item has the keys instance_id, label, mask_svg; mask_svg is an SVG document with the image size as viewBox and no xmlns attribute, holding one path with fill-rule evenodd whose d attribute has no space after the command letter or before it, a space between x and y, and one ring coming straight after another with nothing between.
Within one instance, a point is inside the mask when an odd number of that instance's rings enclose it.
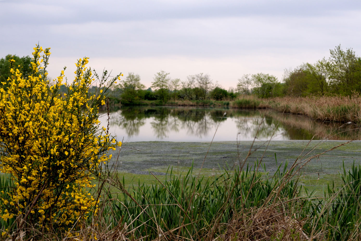
<instances>
[{"instance_id":1,"label":"far pond bank lined with dry tan reeds, below the trees","mask_svg":"<svg viewBox=\"0 0 361 241\"><path fill-rule=\"evenodd\" d=\"M279 112L308 116L313 120L332 122L353 122L361 125L361 96L310 96L310 97L278 97L258 99L243 95L236 100L169 100L162 103L158 100L137 101L139 106L199 106L275 109Z\"/></svg>"}]
</instances>

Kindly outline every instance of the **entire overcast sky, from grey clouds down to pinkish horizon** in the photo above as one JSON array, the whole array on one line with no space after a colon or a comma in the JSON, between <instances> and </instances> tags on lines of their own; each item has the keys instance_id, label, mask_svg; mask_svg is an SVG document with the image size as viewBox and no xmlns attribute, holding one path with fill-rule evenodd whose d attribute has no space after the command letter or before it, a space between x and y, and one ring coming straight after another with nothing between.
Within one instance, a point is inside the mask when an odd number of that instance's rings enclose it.
<instances>
[{"instance_id":1,"label":"entire overcast sky, from grey clouds down to pinkish horizon","mask_svg":"<svg viewBox=\"0 0 361 241\"><path fill-rule=\"evenodd\" d=\"M361 1L0 1L0 56L51 47L49 76L75 61L151 86L160 70L182 81L209 74L225 89L243 74L282 79L285 68L361 55Z\"/></svg>"}]
</instances>

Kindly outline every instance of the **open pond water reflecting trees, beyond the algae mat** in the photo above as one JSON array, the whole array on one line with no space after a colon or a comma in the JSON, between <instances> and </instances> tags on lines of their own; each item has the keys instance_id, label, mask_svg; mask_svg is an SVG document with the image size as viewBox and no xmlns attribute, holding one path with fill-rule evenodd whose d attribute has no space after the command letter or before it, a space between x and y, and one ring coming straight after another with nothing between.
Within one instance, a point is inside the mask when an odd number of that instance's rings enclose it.
<instances>
[{"instance_id":1,"label":"open pond water reflecting trees, beyond the algae mat","mask_svg":"<svg viewBox=\"0 0 361 241\"><path fill-rule=\"evenodd\" d=\"M100 113L101 126L106 127L107 112ZM209 142L213 136L214 141L361 139L353 124L318 122L270 109L113 107L109 132L128 142Z\"/></svg>"}]
</instances>

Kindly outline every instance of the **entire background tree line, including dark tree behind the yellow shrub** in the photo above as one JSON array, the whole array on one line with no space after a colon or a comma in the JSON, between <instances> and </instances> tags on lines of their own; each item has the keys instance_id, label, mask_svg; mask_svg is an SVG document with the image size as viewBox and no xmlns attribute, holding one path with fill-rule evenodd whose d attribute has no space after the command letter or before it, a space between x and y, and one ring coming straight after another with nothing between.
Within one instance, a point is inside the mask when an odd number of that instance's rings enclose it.
<instances>
[{"instance_id":1,"label":"entire background tree line, including dark tree behind the yellow shrub","mask_svg":"<svg viewBox=\"0 0 361 241\"><path fill-rule=\"evenodd\" d=\"M23 69L26 76L31 58L8 55L0 60L1 81L9 76L9 57L20 63L19 68ZM95 91L95 87L90 91ZM280 81L265 73L244 74L238 79L237 86L229 90L214 82L209 74L190 75L182 81L179 78L172 79L170 73L163 70L155 74L152 86L146 89L139 74L129 73L109 94L113 102L122 104L136 104L142 100L158 100L162 103L169 100L232 100L238 95L255 95L258 98L347 96L361 94L361 58L352 48L344 51L339 45L330 50L328 59L323 57L314 64L304 63L295 69L285 69Z\"/></svg>"}]
</instances>

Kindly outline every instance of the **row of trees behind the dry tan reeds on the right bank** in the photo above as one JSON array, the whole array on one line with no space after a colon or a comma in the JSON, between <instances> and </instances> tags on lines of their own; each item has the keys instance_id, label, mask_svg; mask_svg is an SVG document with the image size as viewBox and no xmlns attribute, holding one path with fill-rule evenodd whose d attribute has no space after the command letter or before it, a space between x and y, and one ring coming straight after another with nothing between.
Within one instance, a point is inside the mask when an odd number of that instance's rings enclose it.
<instances>
[{"instance_id":1,"label":"row of trees behind the dry tan reeds on the right bank","mask_svg":"<svg viewBox=\"0 0 361 241\"><path fill-rule=\"evenodd\" d=\"M258 98L361 94L361 58L352 48L343 51L339 45L330 50L328 59L286 69L282 82L269 74L245 74L238 79L237 88Z\"/></svg>"}]
</instances>

